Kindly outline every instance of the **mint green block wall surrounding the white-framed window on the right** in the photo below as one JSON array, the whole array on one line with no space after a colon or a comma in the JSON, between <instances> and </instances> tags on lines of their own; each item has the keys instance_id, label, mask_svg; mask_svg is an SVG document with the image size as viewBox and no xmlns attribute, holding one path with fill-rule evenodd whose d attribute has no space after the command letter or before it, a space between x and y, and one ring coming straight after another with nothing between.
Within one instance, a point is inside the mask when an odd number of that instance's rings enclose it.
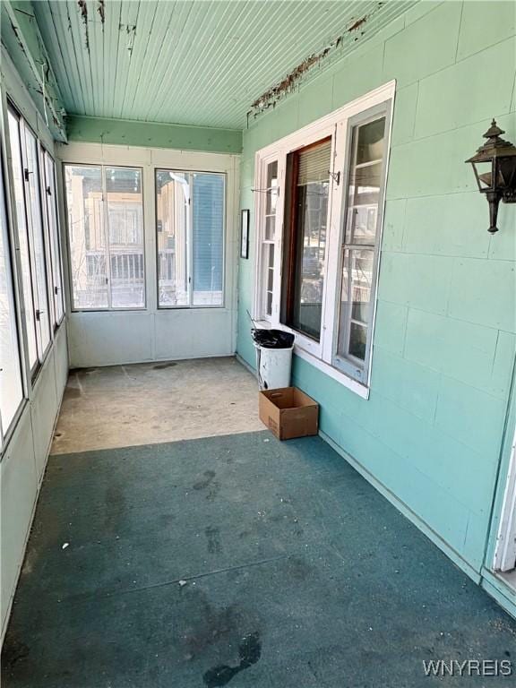
<instances>
[{"instance_id":1,"label":"mint green block wall surrounding the white-framed window on the right","mask_svg":"<svg viewBox=\"0 0 516 688\"><path fill-rule=\"evenodd\" d=\"M397 80L370 399L299 358L293 382L320 402L323 433L470 573L485 556L514 359L516 206L490 236L464 160L492 116L516 141L514 15L509 2L417 4L259 117L241 167L253 209L256 150ZM254 366L251 247L237 349Z\"/></svg>"}]
</instances>

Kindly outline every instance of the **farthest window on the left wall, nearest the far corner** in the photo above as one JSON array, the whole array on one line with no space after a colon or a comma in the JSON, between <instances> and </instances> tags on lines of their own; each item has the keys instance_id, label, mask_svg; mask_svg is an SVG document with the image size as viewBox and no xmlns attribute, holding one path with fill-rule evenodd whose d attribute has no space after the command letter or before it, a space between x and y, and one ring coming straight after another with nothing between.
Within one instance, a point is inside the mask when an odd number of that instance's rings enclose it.
<instances>
[{"instance_id":1,"label":"farthest window on the left wall, nearest the far corner","mask_svg":"<svg viewBox=\"0 0 516 688\"><path fill-rule=\"evenodd\" d=\"M53 301L53 322L57 326L64 316L63 275L61 269L61 245L57 221L56 164L47 153L41 150L41 170L46 197L46 219L48 231L50 284Z\"/></svg>"}]
</instances>

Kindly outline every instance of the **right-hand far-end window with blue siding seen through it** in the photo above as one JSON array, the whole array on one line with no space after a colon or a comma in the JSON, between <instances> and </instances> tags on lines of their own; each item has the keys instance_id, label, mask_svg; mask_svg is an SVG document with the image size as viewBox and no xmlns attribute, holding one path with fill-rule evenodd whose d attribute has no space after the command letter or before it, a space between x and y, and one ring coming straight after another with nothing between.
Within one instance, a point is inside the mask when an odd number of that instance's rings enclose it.
<instances>
[{"instance_id":1,"label":"right-hand far-end window with blue siding seen through it","mask_svg":"<svg viewBox=\"0 0 516 688\"><path fill-rule=\"evenodd\" d=\"M224 303L226 176L156 170L159 307Z\"/></svg>"}]
</instances>

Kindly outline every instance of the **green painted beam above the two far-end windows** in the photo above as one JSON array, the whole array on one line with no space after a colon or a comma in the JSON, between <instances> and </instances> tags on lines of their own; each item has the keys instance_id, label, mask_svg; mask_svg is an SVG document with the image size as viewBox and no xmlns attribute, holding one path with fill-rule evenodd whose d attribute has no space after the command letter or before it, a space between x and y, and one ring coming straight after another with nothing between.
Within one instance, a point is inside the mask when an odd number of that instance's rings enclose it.
<instances>
[{"instance_id":1,"label":"green painted beam above the two far-end windows","mask_svg":"<svg viewBox=\"0 0 516 688\"><path fill-rule=\"evenodd\" d=\"M242 132L236 129L150 124L71 115L66 118L66 131L68 141L219 153L239 153L242 150Z\"/></svg>"}]
</instances>

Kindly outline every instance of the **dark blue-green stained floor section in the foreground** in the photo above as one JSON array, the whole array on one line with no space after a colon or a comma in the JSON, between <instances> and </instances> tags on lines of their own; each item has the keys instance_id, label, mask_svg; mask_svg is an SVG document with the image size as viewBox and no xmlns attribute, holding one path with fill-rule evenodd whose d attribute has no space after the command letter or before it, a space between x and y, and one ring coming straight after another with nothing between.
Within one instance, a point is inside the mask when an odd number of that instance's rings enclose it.
<instances>
[{"instance_id":1,"label":"dark blue-green stained floor section in the foreground","mask_svg":"<svg viewBox=\"0 0 516 688\"><path fill-rule=\"evenodd\" d=\"M425 688L516 623L320 438L52 456L4 688Z\"/></svg>"}]
</instances>

